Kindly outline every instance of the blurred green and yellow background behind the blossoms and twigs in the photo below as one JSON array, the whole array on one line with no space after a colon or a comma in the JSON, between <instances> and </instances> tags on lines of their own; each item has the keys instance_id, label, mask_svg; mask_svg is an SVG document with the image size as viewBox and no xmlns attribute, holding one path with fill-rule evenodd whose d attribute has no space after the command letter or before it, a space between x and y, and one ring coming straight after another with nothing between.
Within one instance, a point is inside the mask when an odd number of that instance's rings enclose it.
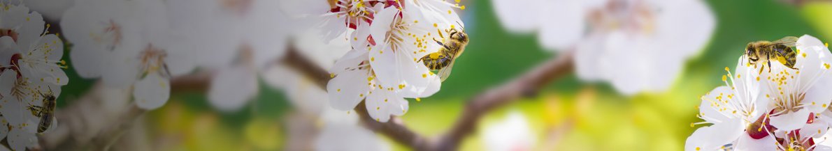
<instances>
[{"instance_id":1,"label":"blurred green and yellow background behind the blossoms and twigs","mask_svg":"<svg viewBox=\"0 0 832 151\"><path fill-rule=\"evenodd\" d=\"M463 1L465 2L465 1ZM626 96L605 83L582 82L576 76L556 80L534 98L517 101L488 114L480 123L494 123L509 110L519 110L532 125L536 149L561 150L682 150L695 128L700 95L724 85L723 68L734 68L749 41L776 40L809 34L821 41L832 39L832 4L795 6L775 0L707 1L717 27L710 44L687 61L685 71L670 90ZM501 27L489 1L468 1L463 20L471 37L453 76L429 98L410 101L402 118L419 134L443 133L462 111L468 97L522 74L557 54L543 50L534 35L518 35ZM69 46L67 46L69 47ZM68 55L66 55L66 60ZM62 91L60 106L72 104L94 81L74 73ZM262 81L262 80L261 80ZM288 129L284 118L292 105L280 90L261 82L260 94L244 110L220 113L207 103L205 94L177 93L160 110L148 114L151 138L174 137L161 147L171 150L280 150ZM552 130L566 133L552 136ZM551 137L557 137L555 141ZM151 139L152 140L152 139ZM156 142L154 142L156 143ZM392 141L391 141L392 143ZM399 144L394 150L409 150ZM552 148L548 148L552 147ZM474 134L462 150L483 150Z\"/></svg>"}]
</instances>

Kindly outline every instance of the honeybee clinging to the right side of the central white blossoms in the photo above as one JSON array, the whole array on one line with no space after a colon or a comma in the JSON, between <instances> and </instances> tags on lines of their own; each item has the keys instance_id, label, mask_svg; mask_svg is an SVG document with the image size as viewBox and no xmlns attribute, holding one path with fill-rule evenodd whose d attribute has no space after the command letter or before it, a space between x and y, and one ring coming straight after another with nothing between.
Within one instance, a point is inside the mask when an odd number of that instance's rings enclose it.
<instances>
[{"instance_id":1,"label":"honeybee clinging to the right side of the central white blossoms","mask_svg":"<svg viewBox=\"0 0 832 151\"><path fill-rule=\"evenodd\" d=\"M460 27L462 26L460 25ZM439 48L439 51L422 56L419 61L422 61L424 66L428 66L428 69L431 71L438 70L439 79L444 81L451 75L453 62L463 54L465 46L468 46L468 34L465 33L465 28L460 32L453 27L444 31L448 33L448 38L445 38L442 34L443 32L438 29L437 32L439 33L439 37L443 38L443 41L438 41L435 38L433 41L436 41L442 47Z\"/></svg>"}]
</instances>

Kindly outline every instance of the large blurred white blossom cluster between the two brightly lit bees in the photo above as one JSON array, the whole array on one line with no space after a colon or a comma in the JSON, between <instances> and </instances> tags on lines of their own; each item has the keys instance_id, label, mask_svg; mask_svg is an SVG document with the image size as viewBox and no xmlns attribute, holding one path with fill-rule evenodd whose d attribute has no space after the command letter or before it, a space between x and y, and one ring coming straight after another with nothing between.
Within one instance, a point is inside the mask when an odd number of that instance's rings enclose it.
<instances>
[{"instance_id":1,"label":"large blurred white blossom cluster between the two brightly lit bees","mask_svg":"<svg viewBox=\"0 0 832 151\"><path fill-rule=\"evenodd\" d=\"M667 90L716 28L701 0L495 0L510 32L536 32L544 48L572 50L575 71L625 95Z\"/></svg>"}]
</instances>

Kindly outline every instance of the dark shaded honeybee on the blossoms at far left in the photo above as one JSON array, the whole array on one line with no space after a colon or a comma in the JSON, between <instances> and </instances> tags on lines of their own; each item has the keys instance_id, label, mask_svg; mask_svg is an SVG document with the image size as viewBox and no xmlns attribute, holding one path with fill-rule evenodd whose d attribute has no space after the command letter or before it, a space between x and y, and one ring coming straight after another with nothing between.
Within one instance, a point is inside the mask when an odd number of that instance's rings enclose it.
<instances>
[{"instance_id":1,"label":"dark shaded honeybee on the blossoms at far left","mask_svg":"<svg viewBox=\"0 0 832 151\"><path fill-rule=\"evenodd\" d=\"M47 94L41 94L43 97L43 105L29 105L27 110L32 111L32 115L40 118L40 122L37 124L37 133L42 134L46 132L51 126L52 121L55 120L55 108L56 108L56 99L55 95L52 95L52 91L50 90Z\"/></svg>"}]
</instances>

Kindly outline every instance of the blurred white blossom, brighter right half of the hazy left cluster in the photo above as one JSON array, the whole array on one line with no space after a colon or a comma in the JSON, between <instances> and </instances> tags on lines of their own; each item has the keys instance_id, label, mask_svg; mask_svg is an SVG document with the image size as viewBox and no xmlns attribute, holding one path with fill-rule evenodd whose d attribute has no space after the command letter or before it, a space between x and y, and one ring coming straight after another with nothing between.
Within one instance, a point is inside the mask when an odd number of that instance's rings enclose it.
<instances>
[{"instance_id":1,"label":"blurred white blossom, brighter right half of the hazy left cluster","mask_svg":"<svg viewBox=\"0 0 832 151\"><path fill-rule=\"evenodd\" d=\"M239 110L257 95L258 73L285 53L295 23L280 2L167 1L173 28L186 35L171 49L205 53L197 66L215 71L208 100L218 109Z\"/></svg>"}]
</instances>

